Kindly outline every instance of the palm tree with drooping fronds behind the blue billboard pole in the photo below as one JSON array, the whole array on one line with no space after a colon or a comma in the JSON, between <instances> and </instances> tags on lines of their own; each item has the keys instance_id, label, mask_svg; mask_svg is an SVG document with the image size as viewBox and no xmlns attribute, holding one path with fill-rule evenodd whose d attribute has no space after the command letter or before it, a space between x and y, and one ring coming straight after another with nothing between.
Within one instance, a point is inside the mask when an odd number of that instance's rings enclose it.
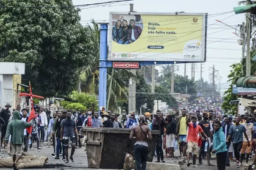
<instances>
[{"instance_id":1,"label":"palm tree with drooping fronds behind the blue billboard pole","mask_svg":"<svg viewBox=\"0 0 256 170\"><path fill-rule=\"evenodd\" d=\"M99 94L99 35L100 30L98 23L94 20L91 22L93 26L88 25L88 38L90 38L91 49L88 56L91 58L91 63L84 67L80 74L81 90L82 92L88 92L91 95ZM112 70L113 74L112 74ZM112 81L112 88L110 89L110 100L108 104L108 110L115 110L118 106L118 98L127 99L127 87L129 84L129 78L135 78L127 69L113 69L107 70L107 86ZM109 93L109 92L108 92Z\"/></svg>"}]
</instances>

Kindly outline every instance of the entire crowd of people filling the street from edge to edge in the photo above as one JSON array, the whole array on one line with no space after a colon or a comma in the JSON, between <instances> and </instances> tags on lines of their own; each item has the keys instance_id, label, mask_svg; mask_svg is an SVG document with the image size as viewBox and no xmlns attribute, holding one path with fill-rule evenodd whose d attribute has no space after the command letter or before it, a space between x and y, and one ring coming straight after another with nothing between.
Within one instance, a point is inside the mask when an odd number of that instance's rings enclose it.
<instances>
[{"instance_id":1,"label":"entire crowd of people filling the street from edge to edge","mask_svg":"<svg viewBox=\"0 0 256 170\"><path fill-rule=\"evenodd\" d=\"M230 166L229 161L233 160L233 156L236 160L236 168L243 166L244 160L245 166L249 166L249 158L254 160L254 164L256 163L256 154L254 154L256 110L253 114L246 113L233 118L212 110L196 111L194 114L188 113L186 109L176 109L174 114L163 117L160 110L157 110L156 114L146 112L140 116L135 112L128 114L126 110L123 110L121 115L109 110L105 112L104 108L101 112L97 112L94 111L93 104L91 111L79 113L72 110L58 110L52 114L52 117L51 111L41 107L35 110L35 118L29 121L29 107L21 110L18 105L12 115L10 107L12 106L7 104L5 109L1 110L0 128L1 148L6 148L9 141L11 143L13 169L18 169L16 163L23 152L34 150L32 148L34 142L37 143L37 149L41 149L40 143L47 143L49 137L54 148L52 156L55 159L62 157L66 163L69 163L69 160L74 162L75 149L82 147L79 140L82 138L79 134L82 126L130 129L130 138L134 136L137 140L135 146L141 145L135 147L135 152L140 152L138 155L135 154L137 169L146 168L148 153L146 138L151 138L150 130L160 131L155 147L156 162L165 162L165 152L166 157L172 158L174 154L177 157L179 154L179 157L187 158L187 166L193 167L196 165L196 158L198 165L201 165L202 158L205 157L208 166L215 166L210 162L211 154L216 154L216 166L219 170ZM32 132L29 134L26 127L30 126ZM140 136L144 134L145 137L138 137L138 133ZM70 155L68 148L71 148Z\"/></svg>"}]
</instances>

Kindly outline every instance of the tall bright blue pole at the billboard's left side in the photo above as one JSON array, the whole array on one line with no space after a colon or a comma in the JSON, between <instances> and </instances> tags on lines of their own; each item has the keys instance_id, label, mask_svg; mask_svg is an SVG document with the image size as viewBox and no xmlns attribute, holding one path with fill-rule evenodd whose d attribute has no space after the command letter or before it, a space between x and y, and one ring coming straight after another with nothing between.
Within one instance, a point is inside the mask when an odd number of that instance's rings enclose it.
<instances>
[{"instance_id":1,"label":"tall bright blue pole at the billboard's left side","mask_svg":"<svg viewBox=\"0 0 256 170\"><path fill-rule=\"evenodd\" d=\"M99 46L99 110L107 101L107 24L101 23Z\"/></svg>"}]
</instances>

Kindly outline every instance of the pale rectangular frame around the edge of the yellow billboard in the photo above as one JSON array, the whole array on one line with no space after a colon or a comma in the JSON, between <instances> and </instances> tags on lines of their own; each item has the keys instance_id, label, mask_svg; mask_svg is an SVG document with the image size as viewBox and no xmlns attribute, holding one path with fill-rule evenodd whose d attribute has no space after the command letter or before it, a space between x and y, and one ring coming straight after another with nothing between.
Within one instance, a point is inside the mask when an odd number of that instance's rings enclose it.
<instances>
[{"instance_id":1,"label":"pale rectangular frame around the edge of the yellow billboard","mask_svg":"<svg viewBox=\"0 0 256 170\"><path fill-rule=\"evenodd\" d=\"M204 61L176 61L176 60L168 60L168 61L164 61L164 60L151 60L151 59L147 59L147 60L132 60L133 62L144 62L144 61L158 61L158 62L177 62L177 63L204 63L206 61L206 53L207 53L207 22L208 22L208 13L185 13L185 12L176 12L176 13L155 13L155 12L110 12L110 20L109 23L112 24L112 15L158 15L158 16L202 16L202 45L203 46L201 49L202 52L202 56L204 56ZM168 42L168 41L166 41ZM165 42L163 42L165 43ZM156 44L155 46L157 46L158 44ZM108 56L111 55L111 50L112 50L112 29L110 29L110 31L108 32ZM124 52L126 54L128 54L127 52ZM144 52L145 53L145 52ZM131 58L130 58L131 59ZM202 58L203 60L203 58ZM113 61L113 62L128 62L130 60L123 60L123 58L119 58L119 60L108 60L107 61Z\"/></svg>"}]
</instances>

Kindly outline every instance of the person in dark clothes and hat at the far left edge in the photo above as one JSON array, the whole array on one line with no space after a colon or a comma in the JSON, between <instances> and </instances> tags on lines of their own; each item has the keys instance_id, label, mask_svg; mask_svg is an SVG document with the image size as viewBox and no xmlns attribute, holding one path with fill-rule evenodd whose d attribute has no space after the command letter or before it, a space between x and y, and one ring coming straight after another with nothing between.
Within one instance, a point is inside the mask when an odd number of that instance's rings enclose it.
<instances>
[{"instance_id":1,"label":"person in dark clothes and hat at the far left edge","mask_svg":"<svg viewBox=\"0 0 256 170\"><path fill-rule=\"evenodd\" d=\"M6 129L7 125L10 119L10 107L12 107L10 104L5 105L6 109L2 110L0 113L0 117L4 120L4 124L2 125L1 129L1 148L2 148L2 141L4 140L5 134L6 134Z\"/></svg>"}]
</instances>

